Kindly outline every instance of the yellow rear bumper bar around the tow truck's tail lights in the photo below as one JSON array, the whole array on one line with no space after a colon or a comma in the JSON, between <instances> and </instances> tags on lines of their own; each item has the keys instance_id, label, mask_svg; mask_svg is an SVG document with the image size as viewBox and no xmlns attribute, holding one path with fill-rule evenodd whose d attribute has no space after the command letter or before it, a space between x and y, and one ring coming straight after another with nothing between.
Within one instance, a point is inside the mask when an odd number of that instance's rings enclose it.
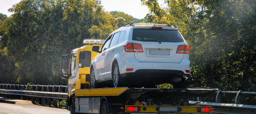
<instances>
[{"instance_id":1,"label":"yellow rear bumper bar around the tow truck's tail lights","mask_svg":"<svg viewBox=\"0 0 256 114\"><path fill-rule=\"evenodd\" d=\"M134 105L126 105L125 106L125 112L134 112L134 113L170 113L170 112L159 112L156 111L157 107L179 107L181 108L181 111L178 112L172 112L172 113L211 113L211 112L198 112L198 108L202 106L139 106L140 111L126 111L127 106L134 106ZM137 107L137 106L136 106ZM146 108L146 110L143 110L143 108ZM203 108L211 108L211 106L204 106Z\"/></svg>"}]
</instances>

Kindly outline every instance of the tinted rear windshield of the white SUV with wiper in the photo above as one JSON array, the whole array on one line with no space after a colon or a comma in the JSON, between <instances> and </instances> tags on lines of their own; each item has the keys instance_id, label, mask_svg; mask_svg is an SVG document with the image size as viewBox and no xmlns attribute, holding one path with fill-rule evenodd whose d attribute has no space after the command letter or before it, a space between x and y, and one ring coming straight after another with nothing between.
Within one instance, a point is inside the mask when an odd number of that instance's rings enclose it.
<instances>
[{"instance_id":1,"label":"tinted rear windshield of the white SUV with wiper","mask_svg":"<svg viewBox=\"0 0 256 114\"><path fill-rule=\"evenodd\" d=\"M184 42L178 30L162 30L162 29L134 29L132 40L149 41L158 40L161 42Z\"/></svg>"}]
</instances>

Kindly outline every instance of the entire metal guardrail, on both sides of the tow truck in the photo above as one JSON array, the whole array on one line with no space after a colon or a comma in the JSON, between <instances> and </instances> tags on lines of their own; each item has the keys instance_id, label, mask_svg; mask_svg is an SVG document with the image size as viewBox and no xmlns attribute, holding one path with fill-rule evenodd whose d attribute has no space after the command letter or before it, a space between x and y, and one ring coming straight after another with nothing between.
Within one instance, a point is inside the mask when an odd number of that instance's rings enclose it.
<instances>
[{"instance_id":1,"label":"entire metal guardrail, on both sides of the tow truck","mask_svg":"<svg viewBox=\"0 0 256 114\"><path fill-rule=\"evenodd\" d=\"M222 103L221 97L226 94L236 94L235 103ZM242 91L217 91L216 103L203 102L202 97L198 97L198 101L189 101L190 104L199 106L212 106L213 113L219 114L256 114L256 105L242 105L241 96L256 95L256 92ZM67 86L62 85L19 85L19 84L0 84L0 95L6 98L32 100L38 104L50 106L53 99L66 100ZM53 103L53 106L56 106Z\"/></svg>"}]
</instances>

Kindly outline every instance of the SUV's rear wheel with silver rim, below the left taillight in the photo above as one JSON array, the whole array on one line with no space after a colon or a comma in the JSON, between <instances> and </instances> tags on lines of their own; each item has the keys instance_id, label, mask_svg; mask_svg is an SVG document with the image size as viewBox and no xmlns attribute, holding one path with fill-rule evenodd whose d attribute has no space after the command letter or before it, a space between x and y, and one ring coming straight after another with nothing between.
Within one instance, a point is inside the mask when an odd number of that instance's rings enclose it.
<instances>
[{"instance_id":1,"label":"SUV's rear wheel with silver rim, below the left taillight","mask_svg":"<svg viewBox=\"0 0 256 114\"><path fill-rule=\"evenodd\" d=\"M122 77L120 76L120 71L117 63L114 65L114 68L113 68L112 79L113 79L113 87L122 86Z\"/></svg>"}]
</instances>

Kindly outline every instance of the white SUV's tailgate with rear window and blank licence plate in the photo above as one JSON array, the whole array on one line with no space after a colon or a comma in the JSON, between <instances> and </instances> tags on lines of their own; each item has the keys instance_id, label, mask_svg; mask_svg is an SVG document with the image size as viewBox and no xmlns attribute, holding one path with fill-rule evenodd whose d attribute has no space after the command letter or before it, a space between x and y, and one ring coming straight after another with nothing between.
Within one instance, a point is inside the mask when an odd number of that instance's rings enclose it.
<instances>
[{"instance_id":1,"label":"white SUV's tailgate with rear window and blank licence plate","mask_svg":"<svg viewBox=\"0 0 256 114\"><path fill-rule=\"evenodd\" d=\"M134 52L139 62L172 62L179 63L184 54L176 53L178 45L186 42L178 30L162 27L133 29L132 40L142 45L142 52Z\"/></svg>"}]
</instances>

